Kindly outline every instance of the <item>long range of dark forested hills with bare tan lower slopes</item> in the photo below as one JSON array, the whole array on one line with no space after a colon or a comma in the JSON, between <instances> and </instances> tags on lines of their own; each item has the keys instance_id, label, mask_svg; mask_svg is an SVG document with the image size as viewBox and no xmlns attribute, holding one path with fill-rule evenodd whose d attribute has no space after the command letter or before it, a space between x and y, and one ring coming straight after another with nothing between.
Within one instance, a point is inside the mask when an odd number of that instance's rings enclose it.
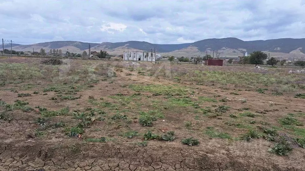
<instances>
[{"instance_id":1,"label":"long range of dark forested hills with bare tan lower slopes","mask_svg":"<svg viewBox=\"0 0 305 171\"><path fill-rule=\"evenodd\" d=\"M156 50L160 55L174 56L194 56L219 53L221 57L238 57L247 52L260 50L270 53L274 57L294 57L305 58L305 38L303 39L272 39L272 40L253 40L243 41L237 38L205 39L193 43L183 44L152 44L145 41L127 41L127 42L103 42L90 43L91 51L106 50L111 55L122 54L123 51L150 51ZM50 49L62 49L63 52L82 53L89 50L89 43L79 41L52 41L37 43L31 45L13 44L13 50L16 51L39 51L41 48L48 52ZM9 49L10 44L5 48Z\"/></svg>"}]
</instances>

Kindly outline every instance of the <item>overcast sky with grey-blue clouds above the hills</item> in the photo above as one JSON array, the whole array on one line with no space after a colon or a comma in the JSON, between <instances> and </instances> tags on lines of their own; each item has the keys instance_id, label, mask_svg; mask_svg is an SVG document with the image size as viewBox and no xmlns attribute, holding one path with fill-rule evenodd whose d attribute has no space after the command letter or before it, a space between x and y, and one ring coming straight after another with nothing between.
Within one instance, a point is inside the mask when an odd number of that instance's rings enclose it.
<instances>
[{"instance_id":1,"label":"overcast sky with grey-blue clouds above the hills","mask_svg":"<svg viewBox=\"0 0 305 171\"><path fill-rule=\"evenodd\" d=\"M0 0L0 21L16 43L305 38L305 0Z\"/></svg>"}]
</instances>

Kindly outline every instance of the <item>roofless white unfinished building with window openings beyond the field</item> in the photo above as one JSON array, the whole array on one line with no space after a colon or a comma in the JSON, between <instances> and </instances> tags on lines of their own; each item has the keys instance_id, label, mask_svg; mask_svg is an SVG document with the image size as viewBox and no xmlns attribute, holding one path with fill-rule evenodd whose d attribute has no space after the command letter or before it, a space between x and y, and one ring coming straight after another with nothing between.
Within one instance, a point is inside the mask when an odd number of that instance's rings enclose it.
<instances>
[{"instance_id":1,"label":"roofless white unfinished building with window openings beyond the field","mask_svg":"<svg viewBox=\"0 0 305 171\"><path fill-rule=\"evenodd\" d=\"M123 52L124 60L155 61L156 54L153 52Z\"/></svg>"}]
</instances>

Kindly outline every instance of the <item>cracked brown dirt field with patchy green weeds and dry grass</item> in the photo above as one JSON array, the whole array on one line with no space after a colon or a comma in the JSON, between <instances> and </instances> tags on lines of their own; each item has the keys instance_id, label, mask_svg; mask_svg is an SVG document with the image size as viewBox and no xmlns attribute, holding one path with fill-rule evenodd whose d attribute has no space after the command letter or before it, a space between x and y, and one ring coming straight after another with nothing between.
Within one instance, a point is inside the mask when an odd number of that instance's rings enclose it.
<instances>
[{"instance_id":1,"label":"cracked brown dirt field with patchy green weeds and dry grass","mask_svg":"<svg viewBox=\"0 0 305 171\"><path fill-rule=\"evenodd\" d=\"M43 60L0 59L1 171L305 170L295 68Z\"/></svg>"}]
</instances>

